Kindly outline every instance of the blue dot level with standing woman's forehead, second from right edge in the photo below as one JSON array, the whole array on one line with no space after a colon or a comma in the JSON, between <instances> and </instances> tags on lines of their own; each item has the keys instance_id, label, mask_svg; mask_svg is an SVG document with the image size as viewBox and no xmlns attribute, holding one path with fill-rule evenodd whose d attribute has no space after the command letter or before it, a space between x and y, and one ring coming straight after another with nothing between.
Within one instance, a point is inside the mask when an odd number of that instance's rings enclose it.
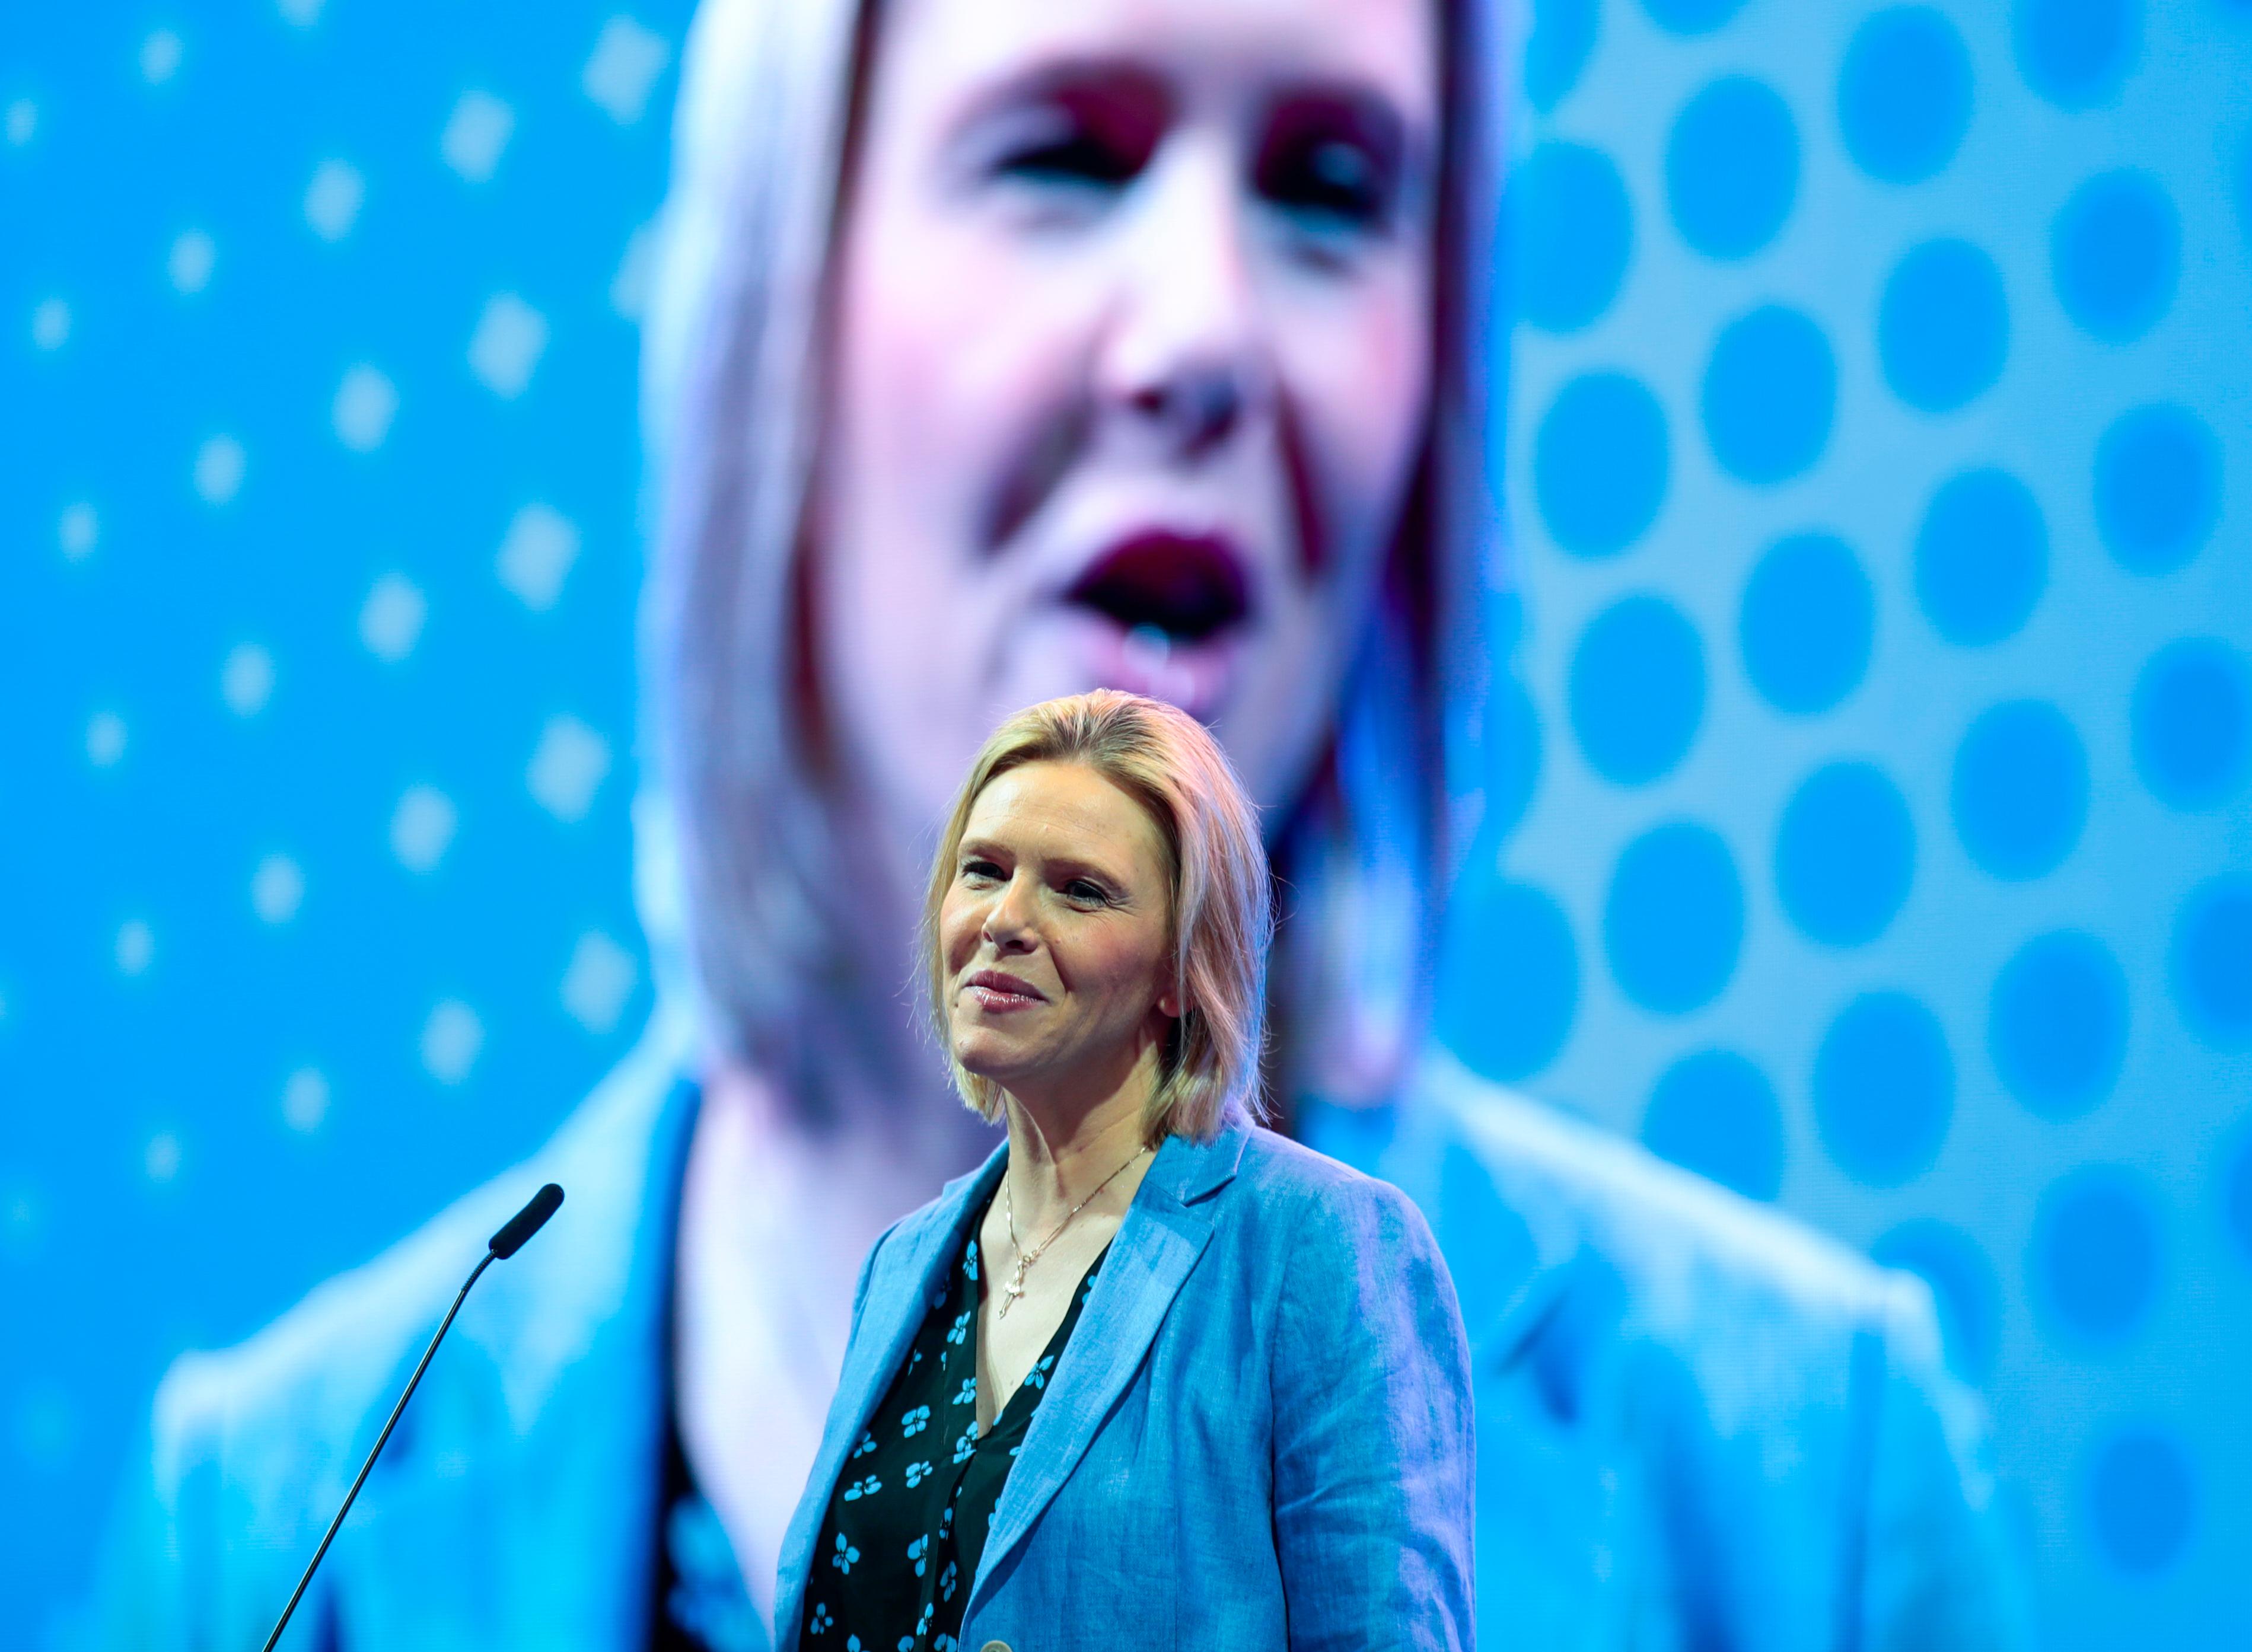
<instances>
[{"instance_id":1,"label":"blue dot level with standing woman's forehead, second from right edge","mask_svg":"<svg viewBox=\"0 0 2252 1652\"><path fill-rule=\"evenodd\" d=\"M2040 700L1984 711L1955 747L1955 835L1980 871L2022 882L2072 853L2088 824L2088 754Z\"/></svg>"}]
</instances>

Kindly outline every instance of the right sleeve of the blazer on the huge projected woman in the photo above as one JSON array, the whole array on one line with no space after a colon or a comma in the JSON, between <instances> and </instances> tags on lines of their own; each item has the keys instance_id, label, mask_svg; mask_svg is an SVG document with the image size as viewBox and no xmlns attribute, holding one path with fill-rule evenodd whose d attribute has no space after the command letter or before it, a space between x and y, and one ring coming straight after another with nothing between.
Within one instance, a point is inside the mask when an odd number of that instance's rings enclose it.
<instances>
[{"instance_id":1,"label":"right sleeve of the blazer on the huge projected woman","mask_svg":"<svg viewBox=\"0 0 2252 1652\"><path fill-rule=\"evenodd\" d=\"M1860 1645L2018 1652L2029 1611L2000 1530L1977 1400L1939 1357L1930 1296L1889 1281L1865 1337L1867 1418Z\"/></svg>"}]
</instances>

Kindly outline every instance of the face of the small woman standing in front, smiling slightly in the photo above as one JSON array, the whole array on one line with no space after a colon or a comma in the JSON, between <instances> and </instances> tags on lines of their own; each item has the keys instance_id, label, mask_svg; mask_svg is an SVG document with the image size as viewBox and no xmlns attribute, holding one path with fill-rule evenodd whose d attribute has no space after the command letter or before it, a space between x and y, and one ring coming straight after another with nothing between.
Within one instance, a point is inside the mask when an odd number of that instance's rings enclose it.
<instances>
[{"instance_id":1,"label":"face of the small woman standing in front, smiling slightly","mask_svg":"<svg viewBox=\"0 0 2252 1652\"><path fill-rule=\"evenodd\" d=\"M1164 842L1083 763L1027 763L971 806L939 905L955 1060L1027 1096L1115 1094L1180 1013Z\"/></svg>"}]
</instances>

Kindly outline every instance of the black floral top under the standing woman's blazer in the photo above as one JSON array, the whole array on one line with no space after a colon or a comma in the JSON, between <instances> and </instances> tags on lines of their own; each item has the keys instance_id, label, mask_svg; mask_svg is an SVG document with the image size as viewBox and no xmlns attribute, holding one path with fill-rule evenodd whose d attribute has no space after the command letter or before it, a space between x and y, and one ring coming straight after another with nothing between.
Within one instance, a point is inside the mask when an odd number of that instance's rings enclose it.
<instances>
[{"instance_id":1,"label":"black floral top under the standing woman's blazer","mask_svg":"<svg viewBox=\"0 0 2252 1652\"><path fill-rule=\"evenodd\" d=\"M806 1580L804 1652L955 1652L993 1508L1103 1256L980 1436L977 1238L968 1240L829 1497Z\"/></svg>"}]
</instances>

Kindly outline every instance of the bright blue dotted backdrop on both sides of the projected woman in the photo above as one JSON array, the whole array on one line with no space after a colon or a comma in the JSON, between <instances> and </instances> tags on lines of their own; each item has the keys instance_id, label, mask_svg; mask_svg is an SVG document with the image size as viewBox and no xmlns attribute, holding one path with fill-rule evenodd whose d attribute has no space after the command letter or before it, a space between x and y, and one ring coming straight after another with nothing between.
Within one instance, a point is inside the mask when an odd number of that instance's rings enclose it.
<instances>
[{"instance_id":1,"label":"bright blue dotted backdrop on both sides of the projected woman","mask_svg":"<svg viewBox=\"0 0 2252 1652\"><path fill-rule=\"evenodd\" d=\"M173 1353L646 1013L685 20L7 25L0 1643L61 1638ZM1441 1035L1930 1278L2047 1645L2243 1645L2252 7L1520 23Z\"/></svg>"}]
</instances>

